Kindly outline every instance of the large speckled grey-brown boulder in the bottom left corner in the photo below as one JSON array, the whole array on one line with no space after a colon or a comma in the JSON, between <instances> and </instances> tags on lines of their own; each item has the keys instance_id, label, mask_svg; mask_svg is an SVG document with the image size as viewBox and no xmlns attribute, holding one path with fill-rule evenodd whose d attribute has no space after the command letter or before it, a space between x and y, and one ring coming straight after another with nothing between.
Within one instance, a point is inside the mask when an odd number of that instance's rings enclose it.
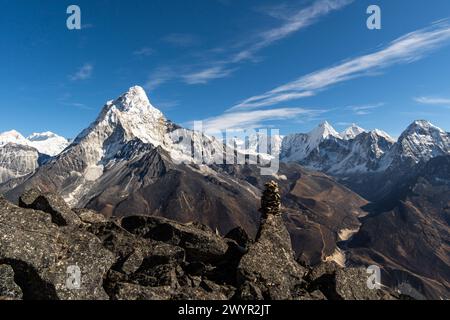
<instances>
[{"instance_id":1,"label":"large speckled grey-brown boulder in the bottom left corner","mask_svg":"<svg viewBox=\"0 0 450 320\"><path fill-rule=\"evenodd\" d=\"M23 298L107 299L102 280L113 254L91 233L53 221L52 213L0 199L0 263L14 270ZM74 266L81 271L79 289L67 285Z\"/></svg>"}]
</instances>

